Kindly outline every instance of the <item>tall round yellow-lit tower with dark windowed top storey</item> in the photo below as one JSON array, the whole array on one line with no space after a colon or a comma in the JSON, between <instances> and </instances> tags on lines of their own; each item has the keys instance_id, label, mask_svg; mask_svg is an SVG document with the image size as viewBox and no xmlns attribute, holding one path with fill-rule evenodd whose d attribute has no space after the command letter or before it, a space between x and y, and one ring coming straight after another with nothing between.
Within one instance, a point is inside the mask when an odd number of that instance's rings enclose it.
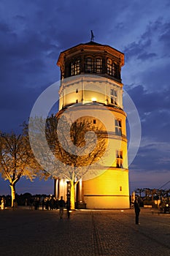
<instances>
[{"instance_id":1,"label":"tall round yellow-lit tower with dark windowed top storey","mask_svg":"<svg viewBox=\"0 0 170 256\"><path fill-rule=\"evenodd\" d=\"M94 105L98 105L109 110L114 120L109 124L113 128L109 132L112 165L101 175L80 181L77 201L85 202L87 208L129 208L126 115L121 82L124 54L109 45L90 41L61 52L57 64L61 69L59 113L75 104L94 113ZM93 118L93 124L96 122ZM66 181L62 181L62 186L61 181L55 181L55 196L66 197L66 193Z\"/></svg>"}]
</instances>

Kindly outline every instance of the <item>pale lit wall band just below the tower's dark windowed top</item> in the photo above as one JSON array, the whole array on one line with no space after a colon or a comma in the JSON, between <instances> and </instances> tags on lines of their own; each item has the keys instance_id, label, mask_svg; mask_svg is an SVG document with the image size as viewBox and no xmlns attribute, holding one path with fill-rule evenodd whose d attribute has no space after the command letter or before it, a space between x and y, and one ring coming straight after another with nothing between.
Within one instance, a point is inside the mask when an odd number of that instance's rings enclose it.
<instances>
[{"instance_id":1,"label":"pale lit wall band just below the tower's dark windowed top","mask_svg":"<svg viewBox=\"0 0 170 256\"><path fill-rule=\"evenodd\" d=\"M117 92L117 106L123 109L123 84L98 75L78 75L61 81L59 110L75 103L100 102L115 106L111 102L111 89Z\"/></svg>"}]
</instances>

